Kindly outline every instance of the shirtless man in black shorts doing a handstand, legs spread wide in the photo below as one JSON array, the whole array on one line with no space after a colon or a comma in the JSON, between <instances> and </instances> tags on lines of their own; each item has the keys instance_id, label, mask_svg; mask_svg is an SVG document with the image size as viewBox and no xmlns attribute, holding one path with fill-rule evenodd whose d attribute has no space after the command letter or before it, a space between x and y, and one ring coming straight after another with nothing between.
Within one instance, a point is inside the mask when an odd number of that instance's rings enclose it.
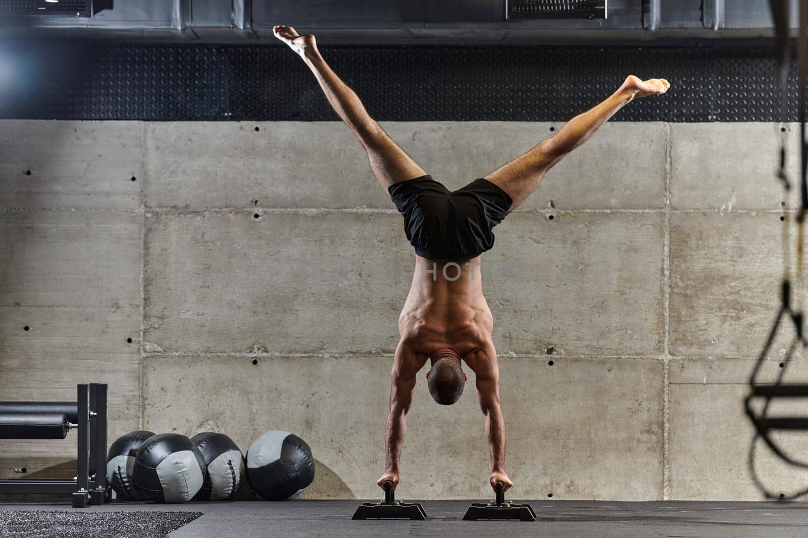
<instances>
[{"instance_id":1,"label":"shirtless man in black shorts doing a handstand, legs spread wide","mask_svg":"<svg viewBox=\"0 0 808 538\"><path fill-rule=\"evenodd\" d=\"M442 405L463 393L466 375L474 372L478 401L485 416L490 447L490 485L513 485L505 473L505 424L499 408L499 366L491 340L493 318L482 296L480 254L494 245L491 229L519 207L541 178L567 153L589 137L632 99L663 94L664 78L642 81L629 76L603 103L574 117L554 137L469 185L449 191L431 178L368 116L356 94L322 59L314 36L276 26L275 36L288 44L314 73L331 106L359 139L370 166L404 216L406 237L415 246L410 293L398 317L401 340L390 380L386 427L385 473L378 484L398 485L398 461L406 431L406 414L415 391L415 376L427 360L429 392Z\"/></svg>"}]
</instances>

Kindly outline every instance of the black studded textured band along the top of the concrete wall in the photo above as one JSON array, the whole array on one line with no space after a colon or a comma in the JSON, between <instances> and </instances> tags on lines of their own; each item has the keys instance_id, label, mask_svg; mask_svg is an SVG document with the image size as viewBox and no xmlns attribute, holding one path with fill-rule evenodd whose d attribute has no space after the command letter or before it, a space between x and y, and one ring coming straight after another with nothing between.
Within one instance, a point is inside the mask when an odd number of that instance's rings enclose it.
<instances>
[{"instance_id":1,"label":"black studded textured band along the top of the concrete wall","mask_svg":"<svg viewBox=\"0 0 808 538\"><path fill-rule=\"evenodd\" d=\"M622 121L777 121L773 48L321 47L377 120L562 121L628 74L665 77ZM339 120L284 46L0 45L0 117ZM6 73L3 80L2 73ZM8 75L11 73L12 75ZM786 99L796 120L797 89Z\"/></svg>"}]
</instances>

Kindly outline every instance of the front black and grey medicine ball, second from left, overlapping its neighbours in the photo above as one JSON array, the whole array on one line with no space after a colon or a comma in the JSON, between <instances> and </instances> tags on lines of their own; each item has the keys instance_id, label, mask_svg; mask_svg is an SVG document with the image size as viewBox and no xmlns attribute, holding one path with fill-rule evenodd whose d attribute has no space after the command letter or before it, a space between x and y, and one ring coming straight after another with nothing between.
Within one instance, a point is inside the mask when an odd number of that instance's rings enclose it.
<instances>
[{"instance_id":1,"label":"front black and grey medicine ball, second from left, overlapping its neighbours","mask_svg":"<svg viewBox=\"0 0 808 538\"><path fill-rule=\"evenodd\" d=\"M132 483L149 501L186 502L202 488L204 470L202 452L191 439L154 435L137 449Z\"/></svg>"}]
</instances>

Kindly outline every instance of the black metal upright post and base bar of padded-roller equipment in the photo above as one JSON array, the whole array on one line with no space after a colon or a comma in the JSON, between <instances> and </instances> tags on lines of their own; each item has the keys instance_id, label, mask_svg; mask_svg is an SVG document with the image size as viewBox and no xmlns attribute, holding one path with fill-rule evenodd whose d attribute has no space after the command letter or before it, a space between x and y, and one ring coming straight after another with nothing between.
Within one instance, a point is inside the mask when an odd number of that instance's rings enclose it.
<instances>
[{"instance_id":1,"label":"black metal upright post and base bar of padded-roller equipment","mask_svg":"<svg viewBox=\"0 0 808 538\"><path fill-rule=\"evenodd\" d=\"M78 473L69 479L0 480L0 494L70 494L74 508L110 500L107 485L107 385L78 385ZM36 402L32 402L36 404Z\"/></svg>"}]
</instances>

